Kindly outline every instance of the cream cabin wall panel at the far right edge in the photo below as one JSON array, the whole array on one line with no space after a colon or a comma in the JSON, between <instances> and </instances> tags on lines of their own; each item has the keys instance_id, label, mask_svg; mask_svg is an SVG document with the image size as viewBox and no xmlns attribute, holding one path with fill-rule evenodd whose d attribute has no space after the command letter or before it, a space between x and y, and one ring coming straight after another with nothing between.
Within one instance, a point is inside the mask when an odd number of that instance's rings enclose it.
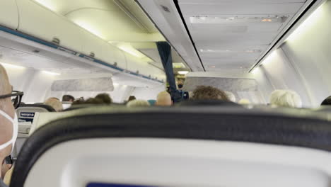
<instances>
[{"instance_id":1,"label":"cream cabin wall panel at the far right edge","mask_svg":"<svg viewBox=\"0 0 331 187\"><path fill-rule=\"evenodd\" d=\"M331 95L331 1L318 8L281 46L294 64L312 106Z\"/></svg>"}]
</instances>

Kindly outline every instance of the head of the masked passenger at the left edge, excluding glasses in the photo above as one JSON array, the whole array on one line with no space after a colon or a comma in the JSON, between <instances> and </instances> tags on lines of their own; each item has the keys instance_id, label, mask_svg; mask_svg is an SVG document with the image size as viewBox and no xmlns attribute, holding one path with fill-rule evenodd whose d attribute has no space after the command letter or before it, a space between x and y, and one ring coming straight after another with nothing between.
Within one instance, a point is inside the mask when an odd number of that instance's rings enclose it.
<instances>
[{"instance_id":1,"label":"head of the masked passenger at the left edge, excluding glasses","mask_svg":"<svg viewBox=\"0 0 331 187\"><path fill-rule=\"evenodd\" d=\"M6 70L0 64L0 96L11 94L11 91ZM2 165L4 158L11 154L12 145L17 137L17 134L14 135L17 123L12 121L15 118L15 108L11 97L0 98L0 110L0 164Z\"/></svg>"}]
</instances>

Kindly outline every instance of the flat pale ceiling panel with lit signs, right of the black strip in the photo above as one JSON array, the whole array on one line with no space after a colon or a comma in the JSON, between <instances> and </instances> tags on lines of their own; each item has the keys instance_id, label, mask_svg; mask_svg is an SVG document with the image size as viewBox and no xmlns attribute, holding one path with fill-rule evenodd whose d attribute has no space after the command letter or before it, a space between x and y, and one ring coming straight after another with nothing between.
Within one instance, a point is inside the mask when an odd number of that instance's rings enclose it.
<instances>
[{"instance_id":1,"label":"flat pale ceiling panel with lit signs, right of the black strip","mask_svg":"<svg viewBox=\"0 0 331 187\"><path fill-rule=\"evenodd\" d=\"M237 69L245 72L270 47L305 0L178 2L205 69ZM272 22L262 22L265 18L269 20L276 16L288 18L284 21L276 18ZM197 18L197 22L192 18ZM217 19L221 21L215 21Z\"/></svg>"}]
</instances>

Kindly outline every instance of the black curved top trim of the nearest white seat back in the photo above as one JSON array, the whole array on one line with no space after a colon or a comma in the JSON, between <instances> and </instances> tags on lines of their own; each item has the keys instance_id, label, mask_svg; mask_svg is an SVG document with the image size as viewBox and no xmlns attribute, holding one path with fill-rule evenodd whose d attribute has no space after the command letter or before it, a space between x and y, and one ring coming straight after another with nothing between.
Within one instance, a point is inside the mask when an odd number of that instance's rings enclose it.
<instances>
[{"instance_id":1,"label":"black curved top trim of the nearest white seat back","mask_svg":"<svg viewBox=\"0 0 331 187\"><path fill-rule=\"evenodd\" d=\"M103 106L83 108L79 112L42 126L29 137L18 156L11 186L23 186L42 154L71 140L115 137L214 140L331 152L331 122L325 113L295 109L248 110L236 106L117 110Z\"/></svg>"}]
</instances>

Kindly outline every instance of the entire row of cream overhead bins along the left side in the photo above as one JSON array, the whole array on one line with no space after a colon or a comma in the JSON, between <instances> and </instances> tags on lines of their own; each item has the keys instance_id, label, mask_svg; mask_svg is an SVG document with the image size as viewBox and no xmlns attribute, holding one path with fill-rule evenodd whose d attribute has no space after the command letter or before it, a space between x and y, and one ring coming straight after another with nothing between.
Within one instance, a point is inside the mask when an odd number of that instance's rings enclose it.
<instances>
[{"instance_id":1,"label":"entire row of cream overhead bins along the left side","mask_svg":"<svg viewBox=\"0 0 331 187\"><path fill-rule=\"evenodd\" d=\"M4 3L1 2L0 4ZM17 26L16 28L22 33L50 42L50 45L52 45L52 41L57 40L59 42L57 45L64 47L64 50L72 55L87 58L94 62L95 60L101 61L99 64L105 64L106 66L110 64L109 67L120 71L127 70L130 74L139 77L149 77L151 75L152 79L163 79L164 72L160 69L151 66L140 58L128 55L114 45L77 26L64 16L37 4L37 2L17 0L17 4L19 12L17 12L17 8L15 10L20 16L20 23L16 23L18 25L18 28ZM12 7L8 3L4 6ZM1 15L2 13L0 13ZM1 18L7 17L1 16ZM15 29L13 26L11 28ZM45 44L47 45L47 43ZM51 47L57 48L57 45Z\"/></svg>"}]
</instances>

